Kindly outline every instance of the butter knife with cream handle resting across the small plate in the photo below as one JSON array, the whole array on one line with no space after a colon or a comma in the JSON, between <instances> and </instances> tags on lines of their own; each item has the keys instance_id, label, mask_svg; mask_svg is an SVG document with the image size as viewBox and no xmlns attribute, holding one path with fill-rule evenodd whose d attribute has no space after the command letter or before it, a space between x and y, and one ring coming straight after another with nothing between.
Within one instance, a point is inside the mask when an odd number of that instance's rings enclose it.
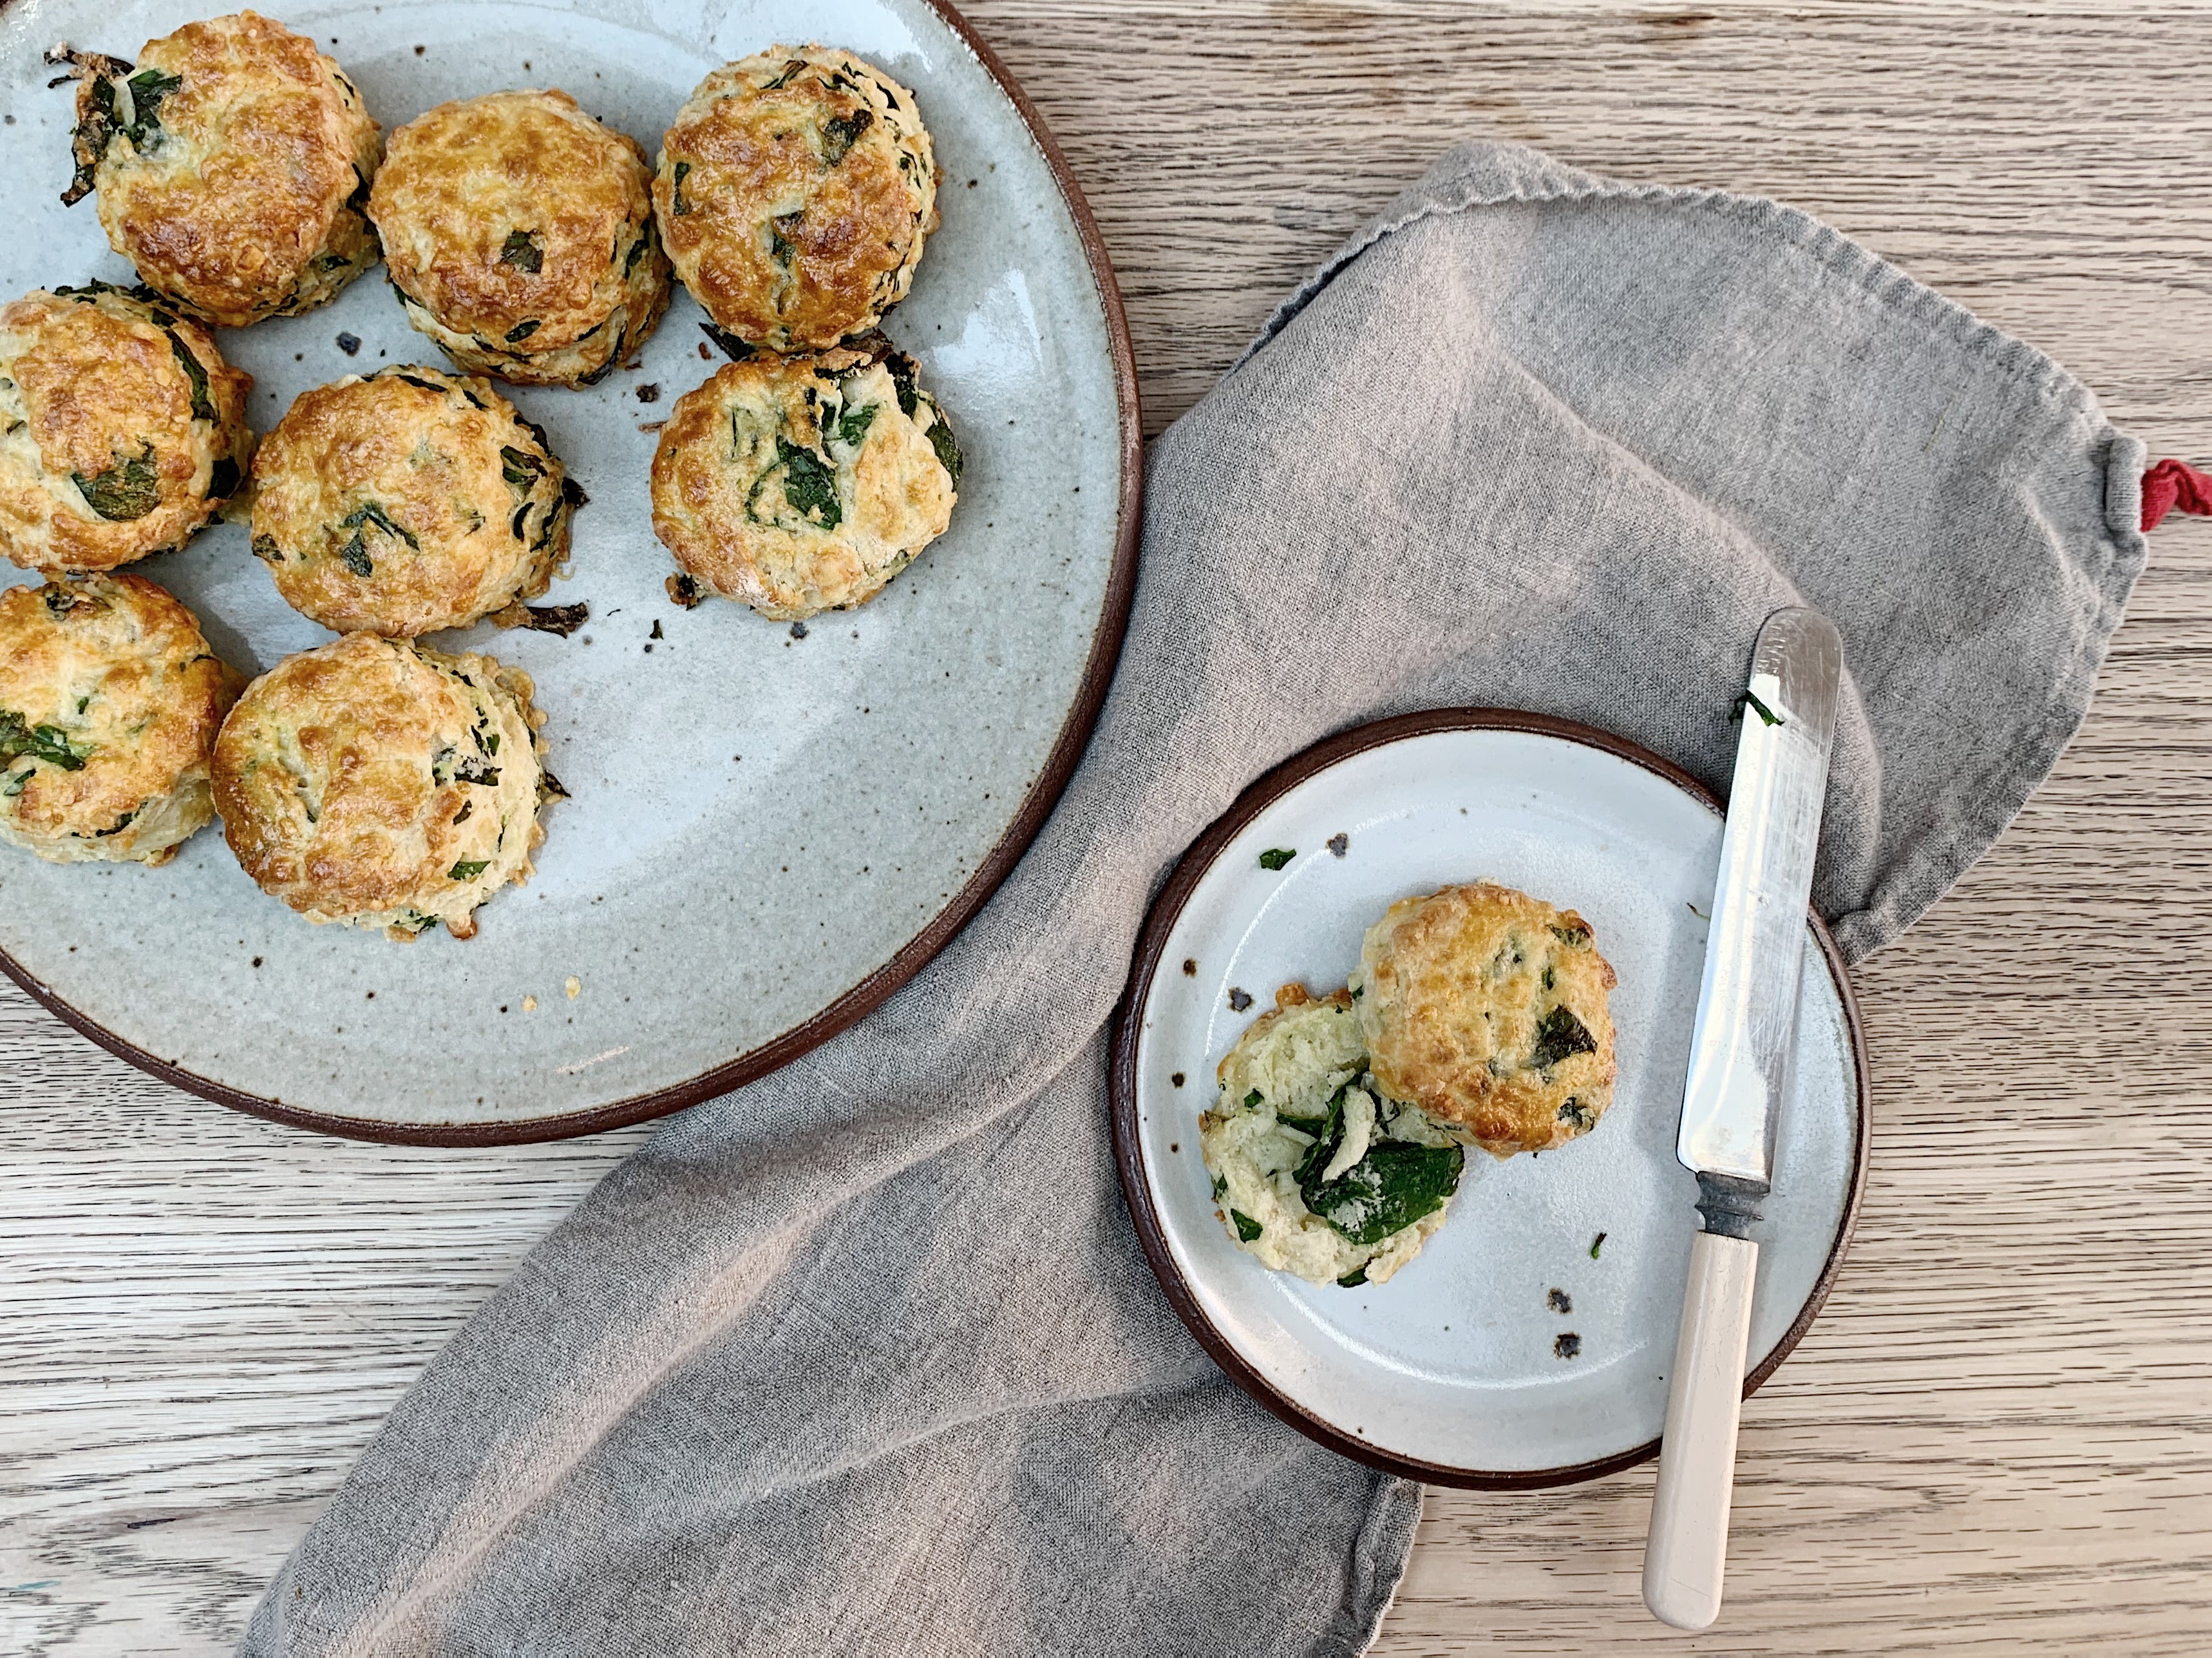
<instances>
[{"instance_id":1,"label":"butter knife with cream handle resting across the small plate","mask_svg":"<svg viewBox=\"0 0 2212 1658\"><path fill-rule=\"evenodd\" d=\"M1697 1173L1703 1231L1690 1244L1668 1377L1644 1605L1677 1629L1708 1629L1721 1616L1759 1271L1750 1226L1774 1178L1774 1113L1796 1040L1805 905L1840 680L1843 640L1827 618L1807 609L1767 618L1743 695L1674 1142L1674 1156Z\"/></svg>"}]
</instances>

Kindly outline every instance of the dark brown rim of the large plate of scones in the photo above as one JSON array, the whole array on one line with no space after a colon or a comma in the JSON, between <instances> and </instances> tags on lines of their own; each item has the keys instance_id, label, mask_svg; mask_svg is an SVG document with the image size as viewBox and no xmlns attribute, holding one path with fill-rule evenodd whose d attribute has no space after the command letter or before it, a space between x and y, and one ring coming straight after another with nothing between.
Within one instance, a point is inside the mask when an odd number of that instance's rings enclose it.
<instances>
[{"instance_id":1,"label":"dark brown rim of the large plate of scones","mask_svg":"<svg viewBox=\"0 0 2212 1658\"><path fill-rule=\"evenodd\" d=\"M0 0L0 4L7 4L7 0ZM613 1105L593 1107L591 1111L571 1111L568 1116L557 1118L533 1118L529 1122L372 1122L367 1118L312 1111L285 1105L283 1100L265 1100L259 1094L243 1094L212 1078L186 1071L170 1060L157 1058L142 1047L126 1043L115 1032L95 1025L75 1007L53 996L4 950L0 950L0 972L22 985L22 989L29 992L29 996L49 1014L84 1036L91 1036L111 1054L131 1060L142 1071L150 1071L164 1082L173 1082L179 1089L215 1100L217 1105L228 1105L237 1111L248 1111L257 1118L283 1122L294 1129L314 1129L316 1133L334 1133L347 1140L383 1140L409 1147L491 1147L568 1140L580 1133L622 1129L630 1122L644 1122L648 1118L666 1116L668 1111L681 1111L686 1105L699 1105L699 1100L712 1100L717 1094L728 1094L745 1082L754 1082L770 1071L790 1065L807 1049L821 1047L847 1025L865 1018L885 998L889 998L894 989L914 978L914 974L918 974L931 956L953 941L953 936L998 890L998 883L1006 879L1015 863L1020 863L1022 852L1029 850L1037 830L1044 828L1044 819L1051 815L1053 806L1060 804L1060 795L1068 786L1068 777L1075 773L1075 761L1082 759L1082 753L1091 742L1091 728L1097 724L1099 706L1106 702L1106 686L1113 682L1115 664L1121 660L1121 635L1128 629L1128 602L1137 587L1137 531L1144 522L1144 412L1137 401L1137 354L1128 341L1128 319L1121 314L1121 288L1115 283L1113 259L1106 252L1104 237L1099 237L1097 219L1091 217L1091 206L1084 201L1082 186L1068 170L1068 162L1053 142L1051 131L1046 131L1044 117L1037 115L1035 104L1031 104L1015 84L1006 64L998 60L998 53L982 42L969 20L953 11L947 0L925 0L925 4L945 20L960 42L975 53L975 60L984 66L984 71L989 71L991 80L998 82L998 89L1006 95L1006 102L1013 104L1022 124L1029 128L1029 137L1037 146L1037 153L1044 155L1044 162L1053 173L1053 182L1060 186L1060 197L1066 201L1068 217L1075 221L1075 235L1084 246L1084 261L1091 266L1091 281L1097 286L1099 308L1106 312L1106 345L1113 354L1115 403L1121 412L1119 518L1113 569L1106 576L1106 602L1099 611L1097 633L1091 640L1091 660L1084 664L1084 677L1075 686L1075 702L1068 706L1068 717L1060 726L1060 737L1053 742L1053 748L1044 759L1044 770L1022 799L1022 810L1015 812L1013 823L1000 837L998 846L993 846L989 857L975 866L975 874L971 874L967 885L953 894L951 903L938 910L929 925L909 939L907 945L887 963L876 967L876 972L805 1023L794 1025L768 1043L761 1043L761 1047L739 1054L737 1058L717 1065L712 1071L695 1076L688 1082L677 1082L675 1087L635 1094L628 1100L615 1100Z\"/></svg>"}]
</instances>

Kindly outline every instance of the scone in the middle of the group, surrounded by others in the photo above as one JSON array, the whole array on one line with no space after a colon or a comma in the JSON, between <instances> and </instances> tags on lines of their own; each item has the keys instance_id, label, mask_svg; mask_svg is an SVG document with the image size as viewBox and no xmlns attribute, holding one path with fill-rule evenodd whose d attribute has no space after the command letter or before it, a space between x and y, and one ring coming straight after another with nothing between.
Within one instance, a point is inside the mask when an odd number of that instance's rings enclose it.
<instances>
[{"instance_id":1,"label":"scone in the middle of the group, surrounded by others","mask_svg":"<svg viewBox=\"0 0 2212 1658\"><path fill-rule=\"evenodd\" d=\"M383 367L303 392L254 456L254 553L336 633L469 626L546 591L582 491L489 381Z\"/></svg>"}]
</instances>

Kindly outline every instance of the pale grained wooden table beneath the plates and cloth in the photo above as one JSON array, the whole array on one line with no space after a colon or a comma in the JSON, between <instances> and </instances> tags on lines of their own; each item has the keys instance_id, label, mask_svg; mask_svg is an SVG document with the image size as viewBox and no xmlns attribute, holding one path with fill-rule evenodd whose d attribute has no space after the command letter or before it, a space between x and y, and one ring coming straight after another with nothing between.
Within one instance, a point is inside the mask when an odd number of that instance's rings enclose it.
<instances>
[{"instance_id":1,"label":"pale grained wooden table beneath the plates and cloth","mask_svg":"<svg viewBox=\"0 0 2212 1658\"><path fill-rule=\"evenodd\" d=\"M978 0L1091 193L1150 425L1453 137L1787 197L2212 458L2212 11ZM1694 1651L2212 1651L2212 527L2170 525L2095 713L1867 965L1874 1173L1743 1423ZM0 996L0 1651L237 1636L383 1412L641 1131L314 1140ZM1650 1470L1431 1492L1376 1647L1679 1643Z\"/></svg>"}]
</instances>

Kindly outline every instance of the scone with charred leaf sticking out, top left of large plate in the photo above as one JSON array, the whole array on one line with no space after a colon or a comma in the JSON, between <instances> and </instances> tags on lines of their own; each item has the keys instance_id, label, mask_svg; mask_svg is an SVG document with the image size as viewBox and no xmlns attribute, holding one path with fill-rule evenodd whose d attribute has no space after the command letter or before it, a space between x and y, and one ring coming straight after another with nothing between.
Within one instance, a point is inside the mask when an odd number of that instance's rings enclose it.
<instances>
[{"instance_id":1,"label":"scone with charred leaf sticking out, top left of large plate","mask_svg":"<svg viewBox=\"0 0 2212 1658\"><path fill-rule=\"evenodd\" d=\"M376 263L365 217L383 135L314 42L252 11L77 71L77 177L139 281L221 328L330 301Z\"/></svg>"}]
</instances>

